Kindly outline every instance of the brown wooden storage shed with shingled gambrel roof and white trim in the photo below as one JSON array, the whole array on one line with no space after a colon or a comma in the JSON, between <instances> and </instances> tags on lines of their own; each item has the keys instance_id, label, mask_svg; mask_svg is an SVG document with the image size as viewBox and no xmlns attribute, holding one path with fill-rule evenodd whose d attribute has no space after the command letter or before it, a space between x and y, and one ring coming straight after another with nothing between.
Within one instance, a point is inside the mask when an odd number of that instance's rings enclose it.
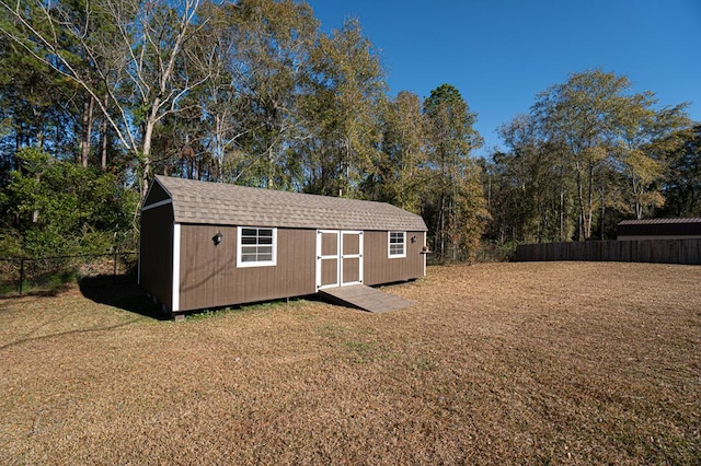
<instances>
[{"instance_id":1,"label":"brown wooden storage shed with shingled gambrel roof and white trim","mask_svg":"<svg viewBox=\"0 0 701 466\"><path fill-rule=\"evenodd\" d=\"M383 202L157 176L138 280L173 315L412 280L426 273L426 230Z\"/></svg>"}]
</instances>

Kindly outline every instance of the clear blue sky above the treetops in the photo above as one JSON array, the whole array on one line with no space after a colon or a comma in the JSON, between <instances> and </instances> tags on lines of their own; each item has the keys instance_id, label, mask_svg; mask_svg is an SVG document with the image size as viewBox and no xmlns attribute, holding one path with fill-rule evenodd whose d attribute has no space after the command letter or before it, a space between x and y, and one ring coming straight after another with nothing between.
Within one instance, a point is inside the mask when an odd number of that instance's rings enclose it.
<instances>
[{"instance_id":1,"label":"clear blue sky above the treetops","mask_svg":"<svg viewBox=\"0 0 701 466\"><path fill-rule=\"evenodd\" d=\"M390 93L455 85L485 139L572 72L627 75L701 121L701 0L308 0L322 28L360 20Z\"/></svg>"}]
</instances>

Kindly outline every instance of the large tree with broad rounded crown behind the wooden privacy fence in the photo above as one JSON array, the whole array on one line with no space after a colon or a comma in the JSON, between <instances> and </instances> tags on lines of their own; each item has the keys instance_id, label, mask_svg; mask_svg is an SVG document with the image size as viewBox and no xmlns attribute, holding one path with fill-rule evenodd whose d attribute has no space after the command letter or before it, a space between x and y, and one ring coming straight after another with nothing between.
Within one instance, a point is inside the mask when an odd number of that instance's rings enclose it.
<instances>
[{"instance_id":1,"label":"large tree with broad rounded crown behind the wooden privacy fence","mask_svg":"<svg viewBox=\"0 0 701 466\"><path fill-rule=\"evenodd\" d=\"M593 236L606 203L621 205L608 194L627 196L636 217L662 203L664 163L653 143L688 120L685 105L657 109L653 95L633 93L628 78L601 70L573 73L538 95L532 116L547 141L565 148L574 171L578 240ZM627 193L607 189L611 171L628 179Z\"/></svg>"}]
</instances>

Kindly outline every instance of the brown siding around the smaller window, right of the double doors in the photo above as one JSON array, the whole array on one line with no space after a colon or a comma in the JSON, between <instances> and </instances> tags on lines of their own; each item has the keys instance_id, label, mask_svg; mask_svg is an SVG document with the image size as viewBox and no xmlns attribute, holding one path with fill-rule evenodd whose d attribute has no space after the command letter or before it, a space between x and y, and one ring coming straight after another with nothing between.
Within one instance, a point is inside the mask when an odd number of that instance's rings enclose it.
<instances>
[{"instance_id":1,"label":"brown siding around the smaller window, right of the double doors","mask_svg":"<svg viewBox=\"0 0 701 466\"><path fill-rule=\"evenodd\" d=\"M388 258L387 232L365 232L364 282L374 286L424 276L424 232L406 232L406 257ZM412 243L412 237L416 241Z\"/></svg>"}]
</instances>

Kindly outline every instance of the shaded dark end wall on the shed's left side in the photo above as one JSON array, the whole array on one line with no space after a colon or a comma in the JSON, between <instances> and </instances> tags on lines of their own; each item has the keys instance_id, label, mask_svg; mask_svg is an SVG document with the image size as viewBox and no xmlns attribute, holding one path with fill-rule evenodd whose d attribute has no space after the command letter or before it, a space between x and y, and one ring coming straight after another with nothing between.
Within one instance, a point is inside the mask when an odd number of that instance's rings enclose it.
<instances>
[{"instance_id":1,"label":"shaded dark end wall on the shed's left side","mask_svg":"<svg viewBox=\"0 0 701 466\"><path fill-rule=\"evenodd\" d=\"M139 248L140 286L170 308L173 289L172 206L141 212Z\"/></svg>"}]
</instances>

